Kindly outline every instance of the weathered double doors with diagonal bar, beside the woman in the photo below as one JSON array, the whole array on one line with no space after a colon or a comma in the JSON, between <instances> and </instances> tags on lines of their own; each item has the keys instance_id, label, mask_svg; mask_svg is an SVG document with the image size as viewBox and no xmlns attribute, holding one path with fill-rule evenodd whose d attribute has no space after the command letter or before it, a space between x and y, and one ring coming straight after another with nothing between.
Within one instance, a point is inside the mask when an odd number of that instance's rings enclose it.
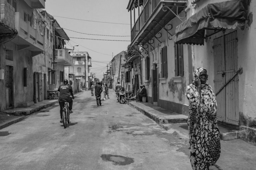
<instances>
[{"instance_id":1,"label":"weathered double doors with diagonal bar, beside the woman","mask_svg":"<svg viewBox=\"0 0 256 170\"><path fill-rule=\"evenodd\" d=\"M234 31L214 40L214 87L217 92L238 69L237 32ZM238 78L229 82L216 96L217 118L233 125L239 123Z\"/></svg>"}]
</instances>

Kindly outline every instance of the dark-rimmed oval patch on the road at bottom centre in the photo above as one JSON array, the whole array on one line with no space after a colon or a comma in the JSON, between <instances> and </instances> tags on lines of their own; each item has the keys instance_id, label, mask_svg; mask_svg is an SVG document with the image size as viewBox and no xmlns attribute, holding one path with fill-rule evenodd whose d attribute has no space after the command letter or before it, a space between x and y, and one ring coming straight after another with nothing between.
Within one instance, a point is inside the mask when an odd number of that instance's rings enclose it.
<instances>
[{"instance_id":1,"label":"dark-rimmed oval patch on the road at bottom centre","mask_svg":"<svg viewBox=\"0 0 256 170\"><path fill-rule=\"evenodd\" d=\"M114 165L129 165L134 162L133 158L111 155L111 154L102 154L100 156L104 161L114 162Z\"/></svg>"}]
</instances>

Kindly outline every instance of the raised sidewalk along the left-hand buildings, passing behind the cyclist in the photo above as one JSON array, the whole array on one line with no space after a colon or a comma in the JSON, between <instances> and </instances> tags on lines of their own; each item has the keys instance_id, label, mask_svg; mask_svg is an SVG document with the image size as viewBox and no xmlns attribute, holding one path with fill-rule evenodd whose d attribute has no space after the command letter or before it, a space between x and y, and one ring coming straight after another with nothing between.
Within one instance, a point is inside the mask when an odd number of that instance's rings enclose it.
<instances>
[{"instance_id":1,"label":"raised sidewalk along the left-hand buildings, passing behind the cyclist","mask_svg":"<svg viewBox=\"0 0 256 170\"><path fill-rule=\"evenodd\" d=\"M76 93L74 96L78 96L80 94L81 93ZM22 119L25 119L27 115L38 112L41 109L48 108L55 104L58 104L58 100L43 100L27 108L12 108L0 112L0 129L15 124Z\"/></svg>"}]
</instances>

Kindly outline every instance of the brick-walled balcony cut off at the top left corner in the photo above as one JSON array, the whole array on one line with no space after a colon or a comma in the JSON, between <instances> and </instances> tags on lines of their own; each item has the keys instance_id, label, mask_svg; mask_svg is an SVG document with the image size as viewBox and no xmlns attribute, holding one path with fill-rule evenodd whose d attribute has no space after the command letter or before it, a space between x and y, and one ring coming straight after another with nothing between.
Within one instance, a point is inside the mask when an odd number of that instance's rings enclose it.
<instances>
[{"instance_id":1,"label":"brick-walled balcony cut off at the top left corner","mask_svg":"<svg viewBox=\"0 0 256 170\"><path fill-rule=\"evenodd\" d=\"M7 0L0 1L0 34L11 34L15 31L15 9Z\"/></svg>"}]
</instances>

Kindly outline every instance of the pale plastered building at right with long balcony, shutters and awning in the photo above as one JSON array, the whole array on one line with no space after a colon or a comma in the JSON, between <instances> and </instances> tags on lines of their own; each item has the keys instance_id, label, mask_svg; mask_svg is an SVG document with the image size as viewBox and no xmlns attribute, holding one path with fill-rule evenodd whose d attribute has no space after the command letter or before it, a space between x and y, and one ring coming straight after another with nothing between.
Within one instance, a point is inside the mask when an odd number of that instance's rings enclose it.
<instances>
[{"instance_id":1,"label":"pale plastered building at right with long balcony, shutters and awning","mask_svg":"<svg viewBox=\"0 0 256 170\"><path fill-rule=\"evenodd\" d=\"M219 124L240 129L238 137L255 144L254 6L243 0L130 0L128 11L139 14L131 17L131 45L143 49L147 101L188 115L186 87L195 68L205 67Z\"/></svg>"}]
</instances>

